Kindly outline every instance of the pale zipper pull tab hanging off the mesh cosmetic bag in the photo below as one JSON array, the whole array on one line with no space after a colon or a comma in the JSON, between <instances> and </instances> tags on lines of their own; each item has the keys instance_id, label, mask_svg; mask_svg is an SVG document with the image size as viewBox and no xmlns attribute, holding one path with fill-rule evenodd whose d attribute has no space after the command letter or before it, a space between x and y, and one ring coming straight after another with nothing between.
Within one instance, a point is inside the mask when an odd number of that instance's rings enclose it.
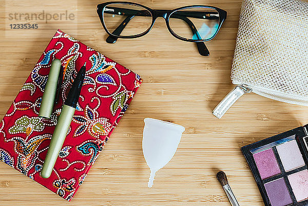
<instances>
[{"instance_id":1,"label":"pale zipper pull tab hanging off the mesh cosmetic bag","mask_svg":"<svg viewBox=\"0 0 308 206\"><path fill-rule=\"evenodd\" d=\"M244 93L251 92L252 89L248 88L246 85L238 85L228 95L216 106L213 110L213 115L218 119L226 113L226 111L244 95Z\"/></svg>"}]
</instances>

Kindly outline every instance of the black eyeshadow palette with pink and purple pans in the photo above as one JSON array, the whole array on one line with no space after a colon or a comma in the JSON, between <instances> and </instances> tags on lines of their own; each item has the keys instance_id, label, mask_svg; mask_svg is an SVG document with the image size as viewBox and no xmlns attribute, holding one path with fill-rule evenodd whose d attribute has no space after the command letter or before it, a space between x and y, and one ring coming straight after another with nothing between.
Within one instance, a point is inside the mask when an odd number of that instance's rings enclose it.
<instances>
[{"instance_id":1,"label":"black eyeshadow palette with pink and purple pans","mask_svg":"<svg viewBox=\"0 0 308 206\"><path fill-rule=\"evenodd\" d=\"M308 205L308 125L246 145L265 205Z\"/></svg>"}]
</instances>

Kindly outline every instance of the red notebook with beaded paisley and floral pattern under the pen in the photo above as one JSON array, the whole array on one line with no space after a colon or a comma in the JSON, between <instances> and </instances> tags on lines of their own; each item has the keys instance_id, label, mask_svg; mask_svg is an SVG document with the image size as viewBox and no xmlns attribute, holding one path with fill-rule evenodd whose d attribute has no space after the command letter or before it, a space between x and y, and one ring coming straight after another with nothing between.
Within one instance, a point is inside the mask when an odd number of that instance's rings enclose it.
<instances>
[{"instance_id":1,"label":"red notebook with beaded paisley and floral pattern under the pen","mask_svg":"<svg viewBox=\"0 0 308 206\"><path fill-rule=\"evenodd\" d=\"M53 59L65 75L59 102L50 120L38 111ZM61 107L74 77L87 63L86 78L68 135L53 172L40 176ZM70 201L125 113L142 79L58 30L38 60L0 125L1 160Z\"/></svg>"}]
</instances>

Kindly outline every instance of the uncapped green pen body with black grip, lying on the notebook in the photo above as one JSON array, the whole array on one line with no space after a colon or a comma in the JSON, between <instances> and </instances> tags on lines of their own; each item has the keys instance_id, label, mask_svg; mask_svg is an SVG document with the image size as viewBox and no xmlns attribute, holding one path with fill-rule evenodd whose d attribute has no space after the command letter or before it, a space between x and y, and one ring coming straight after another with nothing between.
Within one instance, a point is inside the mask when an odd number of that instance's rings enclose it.
<instances>
[{"instance_id":1,"label":"uncapped green pen body with black grip, lying on the notebook","mask_svg":"<svg viewBox=\"0 0 308 206\"><path fill-rule=\"evenodd\" d=\"M49 178L54 167L55 161L59 152L63 146L64 140L67 135L68 128L73 119L75 109L80 96L80 91L83 86L86 73L86 63L79 70L71 89L69 90L67 99L63 105L61 114L55 126L48 152L43 164L41 176L43 178Z\"/></svg>"}]
</instances>

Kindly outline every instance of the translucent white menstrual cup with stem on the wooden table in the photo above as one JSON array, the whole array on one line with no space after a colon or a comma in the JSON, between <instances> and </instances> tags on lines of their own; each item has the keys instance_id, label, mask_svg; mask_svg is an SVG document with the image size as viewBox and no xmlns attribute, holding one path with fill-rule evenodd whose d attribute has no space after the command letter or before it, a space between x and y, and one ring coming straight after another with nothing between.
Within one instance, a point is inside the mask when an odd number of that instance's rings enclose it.
<instances>
[{"instance_id":1,"label":"translucent white menstrual cup with stem on the wooden table","mask_svg":"<svg viewBox=\"0 0 308 206\"><path fill-rule=\"evenodd\" d=\"M144 123L142 149L151 171L148 182L148 187L151 188L155 173L175 155L185 128L151 118L145 118Z\"/></svg>"}]
</instances>

